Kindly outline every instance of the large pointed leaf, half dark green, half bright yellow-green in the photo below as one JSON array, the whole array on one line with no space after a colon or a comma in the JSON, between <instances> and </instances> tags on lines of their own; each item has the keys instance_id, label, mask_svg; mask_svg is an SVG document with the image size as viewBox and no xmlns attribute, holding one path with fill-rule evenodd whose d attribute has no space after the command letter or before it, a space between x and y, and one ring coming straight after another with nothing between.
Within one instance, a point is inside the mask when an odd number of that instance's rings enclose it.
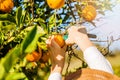
<instances>
[{"instance_id":1,"label":"large pointed leaf, half dark green, half bright yellow-green","mask_svg":"<svg viewBox=\"0 0 120 80\"><path fill-rule=\"evenodd\" d=\"M34 51L36 49L36 43L38 41L38 38L39 35L37 33L37 26L34 26L22 42L22 52L30 53Z\"/></svg>"}]
</instances>

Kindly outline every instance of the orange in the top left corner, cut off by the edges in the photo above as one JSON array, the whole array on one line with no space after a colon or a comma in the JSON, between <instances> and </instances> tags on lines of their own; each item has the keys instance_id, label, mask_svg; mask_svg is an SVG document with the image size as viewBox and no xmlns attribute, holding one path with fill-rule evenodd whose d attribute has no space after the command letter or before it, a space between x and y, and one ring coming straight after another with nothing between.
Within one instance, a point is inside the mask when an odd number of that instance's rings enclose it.
<instances>
[{"instance_id":1,"label":"orange in the top left corner, cut off by the edges","mask_svg":"<svg viewBox=\"0 0 120 80\"><path fill-rule=\"evenodd\" d=\"M9 13L13 7L13 0L0 0L0 11Z\"/></svg>"}]
</instances>

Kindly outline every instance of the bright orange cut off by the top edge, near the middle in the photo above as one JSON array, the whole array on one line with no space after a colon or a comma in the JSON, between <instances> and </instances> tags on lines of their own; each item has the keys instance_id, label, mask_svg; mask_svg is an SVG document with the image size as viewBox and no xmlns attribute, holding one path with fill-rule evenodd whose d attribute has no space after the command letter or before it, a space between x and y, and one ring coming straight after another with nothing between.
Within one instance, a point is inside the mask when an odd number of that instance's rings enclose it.
<instances>
[{"instance_id":1,"label":"bright orange cut off by the top edge, near the middle","mask_svg":"<svg viewBox=\"0 0 120 80\"><path fill-rule=\"evenodd\" d=\"M65 4L65 1L64 0L47 0L47 4L52 9L59 9Z\"/></svg>"}]
</instances>

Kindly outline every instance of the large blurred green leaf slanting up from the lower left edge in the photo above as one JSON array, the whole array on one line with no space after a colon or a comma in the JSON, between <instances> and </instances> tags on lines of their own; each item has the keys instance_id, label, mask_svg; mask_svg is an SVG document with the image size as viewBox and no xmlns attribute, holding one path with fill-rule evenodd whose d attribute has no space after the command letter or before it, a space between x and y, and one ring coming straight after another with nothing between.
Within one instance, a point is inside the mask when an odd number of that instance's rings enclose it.
<instances>
[{"instance_id":1,"label":"large blurred green leaf slanting up from the lower left edge","mask_svg":"<svg viewBox=\"0 0 120 80\"><path fill-rule=\"evenodd\" d=\"M9 73L12 66L18 60L20 55L20 46L16 46L13 50L7 53L7 55L1 59L0 62L0 80L4 79L4 77Z\"/></svg>"}]
</instances>

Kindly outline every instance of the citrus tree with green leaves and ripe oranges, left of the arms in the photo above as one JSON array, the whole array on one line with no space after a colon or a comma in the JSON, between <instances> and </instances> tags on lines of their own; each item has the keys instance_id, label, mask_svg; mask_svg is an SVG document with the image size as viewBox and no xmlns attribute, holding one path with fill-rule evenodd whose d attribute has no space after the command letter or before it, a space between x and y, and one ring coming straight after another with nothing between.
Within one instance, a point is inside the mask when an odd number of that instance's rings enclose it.
<instances>
[{"instance_id":1,"label":"citrus tree with green leaves and ripe oranges, left of the arms","mask_svg":"<svg viewBox=\"0 0 120 80\"><path fill-rule=\"evenodd\" d=\"M95 26L97 14L113 6L110 0L0 0L0 79L46 80L51 66L47 38L55 35L62 47L68 26ZM80 59L71 46L66 52ZM86 66L83 61L81 68Z\"/></svg>"}]
</instances>

